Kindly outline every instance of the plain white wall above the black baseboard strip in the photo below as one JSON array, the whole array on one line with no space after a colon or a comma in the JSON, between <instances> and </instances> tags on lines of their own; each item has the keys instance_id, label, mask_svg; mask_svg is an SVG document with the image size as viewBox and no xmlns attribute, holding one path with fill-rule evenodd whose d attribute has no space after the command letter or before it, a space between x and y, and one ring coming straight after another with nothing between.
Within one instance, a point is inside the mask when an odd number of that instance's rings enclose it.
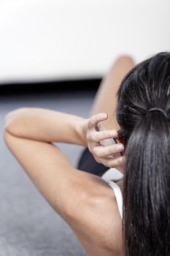
<instances>
[{"instance_id":1,"label":"plain white wall above the black baseboard strip","mask_svg":"<svg viewBox=\"0 0 170 256\"><path fill-rule=\"evenodd\" d=\"M104 75L170 50L169 0L0 0L0 83Z\"/></svg>"}]
</instances>

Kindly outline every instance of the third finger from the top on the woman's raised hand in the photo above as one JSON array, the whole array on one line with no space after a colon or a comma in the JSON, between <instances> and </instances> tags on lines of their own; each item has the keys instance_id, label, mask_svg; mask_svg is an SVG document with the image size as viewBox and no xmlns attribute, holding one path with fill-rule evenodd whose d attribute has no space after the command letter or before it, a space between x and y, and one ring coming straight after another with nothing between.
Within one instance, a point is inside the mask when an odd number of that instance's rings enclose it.
<instances>
[{"instance_id":1,"label":"third finger from the top on the woman's raised hand","mask_svg":"<svg viewBox=\"0 0 170 256\"><path fill-rule=\"evenodd\" d=\"M97 146L93 148L93 154L96 155L96 157L108 157L112 154L116 154L118 152L121 152L124 150L124 146L121 143L117 143L112 146Z\"/></svg>"}]
</instances>

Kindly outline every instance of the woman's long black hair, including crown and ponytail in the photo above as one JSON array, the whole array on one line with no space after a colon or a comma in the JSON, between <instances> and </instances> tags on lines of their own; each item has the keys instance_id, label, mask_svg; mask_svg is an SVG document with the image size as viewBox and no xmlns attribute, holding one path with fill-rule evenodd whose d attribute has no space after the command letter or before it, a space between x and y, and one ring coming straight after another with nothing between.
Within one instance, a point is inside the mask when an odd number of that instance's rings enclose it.
<instances>
[{"instance_id":1,"label":"woman's long black hair, including crown and ponytail","mask_svg":"<svg viewBox=\"0 0 170 256\"><path fill-rule=\"evenodd\" d=\"M162 108L161 111L149 111ZM170 53L142 61L117 91L117 123L125 142L125 256L170 255Z\"/></svg>"}]
</instances>

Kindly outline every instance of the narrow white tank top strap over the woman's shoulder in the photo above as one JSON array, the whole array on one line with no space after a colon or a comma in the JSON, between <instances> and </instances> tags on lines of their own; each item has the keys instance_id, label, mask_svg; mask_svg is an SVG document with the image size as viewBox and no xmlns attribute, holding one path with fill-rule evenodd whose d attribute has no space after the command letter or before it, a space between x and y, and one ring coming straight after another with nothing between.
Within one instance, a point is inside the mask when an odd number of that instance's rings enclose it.
<instances>
[{"instance_id":1,"label":"narrow white tank top strap over the woman's shoulder","mask_svg":"<svg viewBox=\"0 0 170 256\"><path fill-rule=\"evenodd\" d=\"M116 197L117 206L120 212L120 217L121 219L123 219L123 195L120 190L120 187L117 184L115 184L114 181L107 181L107 184L109 185L109 187L112 187L112 189L115 192L115 197Z\"/></svg>"}]
</instances>

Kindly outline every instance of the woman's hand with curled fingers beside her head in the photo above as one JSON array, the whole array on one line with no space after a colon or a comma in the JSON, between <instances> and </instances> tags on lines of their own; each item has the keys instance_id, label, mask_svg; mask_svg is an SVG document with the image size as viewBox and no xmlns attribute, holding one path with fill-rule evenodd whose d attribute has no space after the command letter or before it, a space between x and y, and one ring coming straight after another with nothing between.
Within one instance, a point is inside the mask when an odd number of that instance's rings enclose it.
<instances>
[{"instance_id":1,"label":"woman's hand with curled fingers beside her head","mask_svg":"<svg viewBox=\"0 0 170 256\"><path fill-rule=\"evenodd\" d=\"M98 113L84 119L82 136L86 138L88 149L96 162L107 167L115 167L123 172L125 156L120 156L120 151L124 150L124 146L122 143L115 143L113 139L118 138L117 130L104 130L99 123L106 119L106 113Z\"/></svg>"}]
</instances>

